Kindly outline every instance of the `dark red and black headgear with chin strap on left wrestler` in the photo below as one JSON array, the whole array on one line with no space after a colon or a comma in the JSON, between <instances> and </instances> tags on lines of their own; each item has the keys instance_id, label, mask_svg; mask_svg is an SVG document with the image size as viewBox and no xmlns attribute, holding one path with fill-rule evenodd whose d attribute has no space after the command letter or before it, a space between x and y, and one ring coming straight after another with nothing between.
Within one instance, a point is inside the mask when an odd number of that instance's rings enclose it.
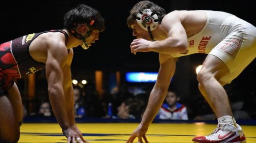
<instances>
[{"instance_id":1,"label":"dark red and black headgear with chin strap on left wrestler","mask_svg":"<svg viewBox=\"0 0 256 143\"><path fill-rule=\"evenodd\" d=\"M90 22L90 25L94 23L94 20ZM87 25L87 23L74 23L74 27L71 29L71 33L75 38L78 38L79 40L83 41L82 48L83 49L88 49L90 46L86 42L86 38L90 36L93 32L92 29L90 29L90 25Z\"/></svg>"}]
</instances>

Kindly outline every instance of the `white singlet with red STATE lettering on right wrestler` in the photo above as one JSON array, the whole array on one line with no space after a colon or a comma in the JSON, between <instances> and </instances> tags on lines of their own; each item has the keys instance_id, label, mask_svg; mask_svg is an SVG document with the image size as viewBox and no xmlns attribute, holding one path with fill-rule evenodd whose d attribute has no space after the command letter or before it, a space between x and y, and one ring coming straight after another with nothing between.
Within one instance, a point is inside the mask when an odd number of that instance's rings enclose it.
<instances>
[{"instance_id":1,"label":"white singlet with red STATE lettering on right wrestler","mask_svg":"<svg viewBox=\"0 0 256 143\"><path fill-rule=\"evenodd\" d=\"M207 22L200 32L187 38L188 52L171 56L181 57L196 53L214 55L230 71L220 81L230 83L256 57L256 28L227 12L204 11L207 13Z\"/></svg>"}]
</instances>

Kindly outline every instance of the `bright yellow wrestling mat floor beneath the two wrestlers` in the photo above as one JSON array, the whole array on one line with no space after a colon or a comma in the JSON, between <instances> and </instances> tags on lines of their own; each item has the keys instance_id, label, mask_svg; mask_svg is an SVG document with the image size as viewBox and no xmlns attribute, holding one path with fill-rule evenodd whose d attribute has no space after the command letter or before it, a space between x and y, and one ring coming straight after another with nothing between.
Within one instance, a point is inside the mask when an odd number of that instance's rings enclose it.
<instances>
[{"instance_id":1,"label":"bright yellow wrestling mat floor beneath the two wrestlers","mask_svg":"<svg viewBox=\"0 0 256 143\"><path fill-rule=\"evenodd\" d=\"M139 123L77 123L84 138L92 143L126 142ZM207 135L215 129L205 123L153 123L147 132L150 143L192 142L197 135ZM256 126L242 125L247 143L256 142ZM20 128L20 143L67 142L57 123L24 123ZM137 138L134 142L137 142Z\"/></svg>"}]
</instances>

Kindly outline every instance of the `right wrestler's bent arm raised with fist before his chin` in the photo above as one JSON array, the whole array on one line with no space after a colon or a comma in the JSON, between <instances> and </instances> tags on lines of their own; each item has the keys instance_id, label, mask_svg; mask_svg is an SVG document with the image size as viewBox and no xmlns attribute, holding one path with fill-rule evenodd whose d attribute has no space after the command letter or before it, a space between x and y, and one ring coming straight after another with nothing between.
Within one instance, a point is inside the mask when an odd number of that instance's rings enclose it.
<instances>
[{"instance_id":1,"label":"right wrestler's bent arm raised with fist before his chin","mask_svg":"<svg viewBox=\"0 0 256 143\"><path fill-rule=\"evenodd\" d=\"M131 52L155 51L161 54L182 53L187 48L187 35L182 25L181 16L178 12L166 15L162 23L153 35L158 37L157 41L148 41L143 38L133 40L130 45Z\"/></svg>"}]
</instances>

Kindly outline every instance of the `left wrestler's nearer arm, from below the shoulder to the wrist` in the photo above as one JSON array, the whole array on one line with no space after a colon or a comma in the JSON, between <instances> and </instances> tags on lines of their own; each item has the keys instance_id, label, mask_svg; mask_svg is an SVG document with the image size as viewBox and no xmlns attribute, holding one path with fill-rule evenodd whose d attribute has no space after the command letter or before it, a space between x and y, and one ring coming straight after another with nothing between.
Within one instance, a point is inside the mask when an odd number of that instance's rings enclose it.
<instances>
[{"instance_id":1,"label":"left wrestler's nearer arm, from below the shoulder to the wrist","mask_svg":"<svg viewBox=\"0 0 256 143\"><path fill-rule=\"evenodd\" d=\"M48 82L48 93L53 113L62 129L70 127L69 116L66 112L63 82L66 59L68 52L65 47L50 47L47 53L46 77Z\"/></svg>"}]
</instances>

